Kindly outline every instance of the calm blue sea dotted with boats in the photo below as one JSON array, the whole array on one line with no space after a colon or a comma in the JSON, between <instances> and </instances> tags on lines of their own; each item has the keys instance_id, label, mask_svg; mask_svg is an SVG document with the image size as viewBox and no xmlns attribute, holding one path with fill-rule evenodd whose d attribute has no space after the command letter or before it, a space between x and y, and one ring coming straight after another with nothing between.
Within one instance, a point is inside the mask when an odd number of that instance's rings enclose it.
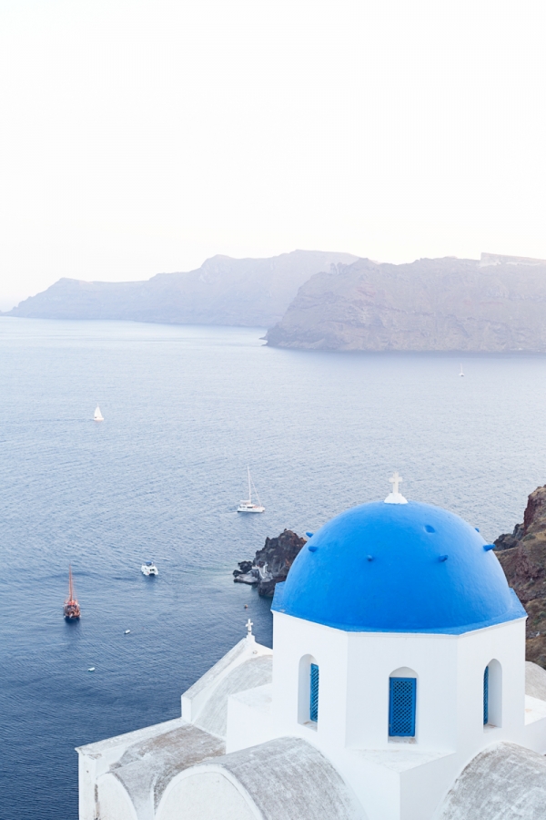
<instances>
[{"instance_id":1,"label":"calm blue sea dotted with boats","mask_svg":"<svg viewBox=\"0 0 546 820\"><path fill-rule=\"evenodd\" d=\"M467 357L461 379L460 358L261 335L0 318L1 820L76 820L76 745L177 717L248 614L270 643L269 602L231 576L266 536L385 497L398 469L495 538L546 481L546 358ZM234 511L247 464L263 516Z\"/></svg>"}]
</instances>

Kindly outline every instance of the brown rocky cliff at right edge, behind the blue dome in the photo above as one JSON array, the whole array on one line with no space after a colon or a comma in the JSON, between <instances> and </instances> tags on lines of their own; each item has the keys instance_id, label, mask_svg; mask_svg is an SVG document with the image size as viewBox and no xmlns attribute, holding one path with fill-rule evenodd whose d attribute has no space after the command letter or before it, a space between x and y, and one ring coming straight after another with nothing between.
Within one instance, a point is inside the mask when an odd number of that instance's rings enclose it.
<instances>
[{"instance_id":1,"label":"brown rocky cliff at right edge, behind the blue dome","mask_svg":"<svg viewBox=\"0 0 546 820\"><path fill-rule=\"evenodd\" d=\"M546 486L529 497L513 534L495 541L509 584L527 610L527 660L546 669Z\"/></svg>"}]
</instances>

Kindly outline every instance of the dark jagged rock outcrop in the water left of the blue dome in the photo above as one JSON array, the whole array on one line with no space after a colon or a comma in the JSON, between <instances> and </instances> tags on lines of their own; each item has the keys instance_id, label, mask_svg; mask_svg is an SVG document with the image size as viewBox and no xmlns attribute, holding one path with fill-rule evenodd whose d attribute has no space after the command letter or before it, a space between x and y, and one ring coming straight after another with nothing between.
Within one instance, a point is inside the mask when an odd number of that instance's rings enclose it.
<instances>
[{"instance_id":1,"label":"dark jagged rock outcrop in the water left of the blue dome","mask_svg":"<svg viewBox=\"0 0 546 820\"><path fill-rule=\"evenodd\" d=\"M287 579L299 550L306 544L305 538L285 529L278 538L266 538L262 549L258 549L253 561L241 561L239 569L233 572L238 583L252 584L258 587L258 594L272 598L275 585Z\"/></svg>"}]
</instances>

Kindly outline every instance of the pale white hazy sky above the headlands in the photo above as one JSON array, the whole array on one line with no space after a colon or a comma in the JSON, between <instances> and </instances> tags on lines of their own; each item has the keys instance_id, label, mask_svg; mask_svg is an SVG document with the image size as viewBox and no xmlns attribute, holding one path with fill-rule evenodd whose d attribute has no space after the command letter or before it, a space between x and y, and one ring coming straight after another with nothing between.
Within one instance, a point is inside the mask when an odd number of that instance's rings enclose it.
<instances>
[{"instance_id":1,"label":"pale white hazy sky above the headlands","mask_svg":"<svg viewBox=\"0 0 546 820\"><path fill-rule=\"evenodd\" d=\"M543 0L0 12L0 307L215 253L546 258Z\"/></svg>"}]
</instances>

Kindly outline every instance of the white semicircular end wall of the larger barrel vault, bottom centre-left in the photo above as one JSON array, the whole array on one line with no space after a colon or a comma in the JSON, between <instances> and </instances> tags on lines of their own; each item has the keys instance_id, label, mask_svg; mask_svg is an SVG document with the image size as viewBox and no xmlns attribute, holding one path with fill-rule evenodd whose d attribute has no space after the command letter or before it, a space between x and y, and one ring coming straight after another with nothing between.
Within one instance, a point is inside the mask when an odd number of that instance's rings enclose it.
<instances>
[{"instance_id":1,"label":"white semicircular end wall of the larger barrel vault, bottom centre-left","mask_svg":"<svg viewBox=\"0 0 546 820\"><path fill-rule=\"evenodd\" d=\"M156 814L156 820L219 818L262 820L262 815L238 784L225 772L214 771L211 766L206 772L196 768L178 774L167 786Z\"/></svg>"}]
</instances>

